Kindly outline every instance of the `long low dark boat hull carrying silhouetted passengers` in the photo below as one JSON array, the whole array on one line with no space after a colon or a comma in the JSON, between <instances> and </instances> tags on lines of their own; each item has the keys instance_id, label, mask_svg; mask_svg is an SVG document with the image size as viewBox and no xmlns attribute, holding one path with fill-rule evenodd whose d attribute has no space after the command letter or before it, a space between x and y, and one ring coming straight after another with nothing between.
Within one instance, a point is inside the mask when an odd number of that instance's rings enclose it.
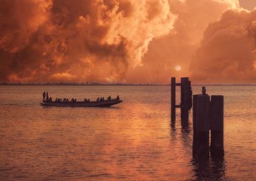
<instances>
[{"instance_id":1,"label":"long low dark boat hull carrying silhouetted passengers","mask_svg":"<svg viewBox=\"0 0 256 181\"><path fill-rule=\"evenodd\" d=\"M104 100L104 101L77 101L75 103L63 103L63 102L42 102L40 103L42 106L54 106L54 107L110 107L112 105L117 105L122 103L122 100L112 99L112 100Z\"/></svg>"}]
</instances>

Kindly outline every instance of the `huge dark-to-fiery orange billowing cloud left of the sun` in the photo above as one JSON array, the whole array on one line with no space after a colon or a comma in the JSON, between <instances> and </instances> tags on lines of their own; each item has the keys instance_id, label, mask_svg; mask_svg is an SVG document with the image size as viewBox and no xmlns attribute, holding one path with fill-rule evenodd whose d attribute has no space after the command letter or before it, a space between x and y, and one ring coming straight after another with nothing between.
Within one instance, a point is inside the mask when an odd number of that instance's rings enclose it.
<instances>
[{"instance_id":1,"label":"huge dark-to-fiery orange billowing cloud left of the sun","mask_svg":"<svg viewBox=\"0 0 256 181\"><path fill-rule=\"evenodd\" d=\"M175 19L167 0L2 0L0 80L123 81Z\"/></svg>"}]
</instances>

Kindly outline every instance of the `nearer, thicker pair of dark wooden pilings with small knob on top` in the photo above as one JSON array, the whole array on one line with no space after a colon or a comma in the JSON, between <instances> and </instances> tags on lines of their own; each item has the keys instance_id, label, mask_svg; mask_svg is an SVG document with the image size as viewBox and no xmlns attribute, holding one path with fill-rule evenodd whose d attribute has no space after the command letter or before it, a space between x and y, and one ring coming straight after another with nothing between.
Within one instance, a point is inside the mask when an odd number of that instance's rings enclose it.
<instances>
[{"instance_id":1,"label":"nearer, thicker pair of dark wooden pilings with small knob on top","mask_svg":"<svg viewBox=\"0 0 256 181\"><path fill-rule=\"evenodd\" d=\"M224 97L193 95L193 157L224 156Z\"/></svg>"}]
</instances>

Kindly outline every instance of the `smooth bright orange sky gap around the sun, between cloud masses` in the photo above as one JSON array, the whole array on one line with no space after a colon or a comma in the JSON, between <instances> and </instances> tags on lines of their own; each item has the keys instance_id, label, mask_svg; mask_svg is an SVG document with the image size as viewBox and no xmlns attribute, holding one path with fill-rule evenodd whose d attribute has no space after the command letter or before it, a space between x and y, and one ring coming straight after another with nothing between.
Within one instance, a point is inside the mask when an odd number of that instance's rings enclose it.
<instances>
[{"instance_id":1,"label":"smooth bright orange sky gap around the sun, between cloud masses","mask_svg":"<svg viewBox=\"0 0 256 181\"><path fill-rule=\"evenodd\" d=\"M169 0L169 3L170 10L178 17L173 31L150 43L143 66L129 70L129 82L142 79L168 83L170 76L189 76L191 59L209 23L216 21L227 9L238 8L236 0ZM181 71L174 70L176 65L181 66Z\"/></svg>"}]
</instances>

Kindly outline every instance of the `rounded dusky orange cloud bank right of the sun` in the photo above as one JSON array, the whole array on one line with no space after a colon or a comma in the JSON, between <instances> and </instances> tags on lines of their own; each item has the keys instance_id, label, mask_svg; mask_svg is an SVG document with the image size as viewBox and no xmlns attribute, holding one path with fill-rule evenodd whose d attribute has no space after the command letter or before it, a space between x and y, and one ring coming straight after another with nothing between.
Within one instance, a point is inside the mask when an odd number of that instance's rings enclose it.
<instances>
[{"instance_id":1,"label":"rounded dusky orange cloud bank right of the sun","mask_svg":"<svg viewBox=\"0 0 256 181\"><path fill-rule=\"evenodd\" d=\"M205 30L191 62L197 82L256 82L256 9L225 11Z\"/></svg>"}]
</instances>

